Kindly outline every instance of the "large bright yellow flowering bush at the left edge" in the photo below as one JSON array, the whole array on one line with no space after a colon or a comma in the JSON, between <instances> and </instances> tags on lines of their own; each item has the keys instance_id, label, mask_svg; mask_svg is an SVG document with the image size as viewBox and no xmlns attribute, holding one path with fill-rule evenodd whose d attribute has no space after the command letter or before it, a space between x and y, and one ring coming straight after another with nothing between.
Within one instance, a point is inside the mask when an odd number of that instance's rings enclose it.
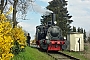
<instances>
[{"instance_id":1,"label":"large bright yellow flowering bush at the left edge","mask_svg":"<svg viewBox=\"0 0 90 60\"><path fill-rule=\"evenodd\" d=\"M13 54L10 48L13 46L12 26L4 14L0 13L0 60L10 60Z\"/></svg>"}]
</instances>

